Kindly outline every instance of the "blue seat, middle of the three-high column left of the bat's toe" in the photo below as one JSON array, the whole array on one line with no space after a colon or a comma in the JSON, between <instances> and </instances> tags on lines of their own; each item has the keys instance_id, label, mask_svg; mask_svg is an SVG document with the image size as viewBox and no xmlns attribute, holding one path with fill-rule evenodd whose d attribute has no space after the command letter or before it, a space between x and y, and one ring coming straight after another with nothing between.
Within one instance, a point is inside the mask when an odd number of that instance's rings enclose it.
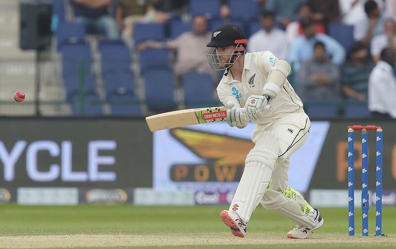
<instances>
[{"instance_id":1,"label":"blue seat, middle of the three-high column left of the bat's toe","mask_svg":"<svg viewBox=\"0 0 396 249\"><path fill-rule=\"evenodd\" d=\"M106 74L103 77L104 90L106 94L122 93L126 91L134 92L135 77L132 72L118 72L115 74Z\"/></svg>"}]
</instances>

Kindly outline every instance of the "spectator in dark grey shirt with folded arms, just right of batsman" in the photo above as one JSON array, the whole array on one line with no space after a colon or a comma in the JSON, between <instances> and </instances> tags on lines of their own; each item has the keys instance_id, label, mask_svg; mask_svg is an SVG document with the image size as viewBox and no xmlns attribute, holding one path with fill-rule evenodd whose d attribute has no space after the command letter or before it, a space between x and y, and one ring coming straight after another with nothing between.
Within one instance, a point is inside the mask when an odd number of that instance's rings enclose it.
<instances>
[{"instance_id":1,"label":"spectator in dark grey shirt with folded arms, just right of batsman","mask_svg":"<svg viewBox=\"0 0 396 249\"><path fill-rule=\"evenodd\" d=\"M326 54L325 44L315 42L313 59L304 61L298 72L300 89L305 99L337 99L340 71Z\"/></svg>"}]
</instances>

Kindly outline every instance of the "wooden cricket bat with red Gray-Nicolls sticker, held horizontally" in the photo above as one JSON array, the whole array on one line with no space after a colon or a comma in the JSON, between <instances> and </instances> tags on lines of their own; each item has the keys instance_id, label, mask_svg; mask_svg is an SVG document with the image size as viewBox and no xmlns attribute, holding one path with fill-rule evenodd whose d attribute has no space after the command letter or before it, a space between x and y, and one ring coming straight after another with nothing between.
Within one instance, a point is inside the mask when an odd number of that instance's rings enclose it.
<instances>
[{"instance_id":1,"label":"wooden cricket bat with red Gray-Nicolls sticker, held horizontally","mask_svg":"<svg viewBox=\"0 0 396 249\"><path fill-rule=\"evenodd\" d=\"M224 106L173 111L146 118L151 131L223 120L227 120L227 109Z\"/></svg>"}]
</instances>

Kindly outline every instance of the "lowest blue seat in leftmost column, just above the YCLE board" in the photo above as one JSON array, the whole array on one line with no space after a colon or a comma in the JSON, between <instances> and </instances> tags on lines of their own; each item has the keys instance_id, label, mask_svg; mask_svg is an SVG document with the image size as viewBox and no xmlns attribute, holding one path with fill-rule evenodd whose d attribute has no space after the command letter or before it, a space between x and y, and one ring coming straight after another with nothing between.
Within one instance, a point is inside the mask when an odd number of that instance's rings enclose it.
<instances>
[{"instance_id":1,"label":"lowest blue seat in leftmost column, just above the YCLE board","mask_svg":"<svg viewBox=\"0 0 396 249\"><path fill-rule=\"evenodd\" d=\"M87 91L83 96L73 95L72 109L73 115L98 116L103 114L102 101L94 91Z\"/></svg>"}]
</instances>

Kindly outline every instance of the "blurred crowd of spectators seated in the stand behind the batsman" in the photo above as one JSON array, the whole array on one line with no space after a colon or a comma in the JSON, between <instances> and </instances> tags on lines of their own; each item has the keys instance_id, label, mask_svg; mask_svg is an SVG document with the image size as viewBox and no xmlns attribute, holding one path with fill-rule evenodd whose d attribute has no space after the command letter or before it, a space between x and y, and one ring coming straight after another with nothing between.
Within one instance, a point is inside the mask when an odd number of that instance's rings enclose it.
<instances>
[{"instance_id":1,"label":"blurred crowd of spectators seated in the stand behind the batsman","mask_svg":"<svg viewBox=\"0 0 396 249\"><path fill-rule=\"evenodd\" d=\"M135 44L138 51L168 48L176 53L174 73L219 75L207 63L213 17L189 13L189 0L70 0L74 19L87 31L109 39L132 40L136 23L167 24L191 18L192 31L166 42ZM396 118L396 0L246 0L259 4L260 28L247 50L269 50L293 68L293 84L305 99L368 104L378 116ZM218 19L232 22L228 0L220 0ZM346 47L329 35L335 23L353 26ZM133 42L133 41L132 41Z\"/></svg>"}]
</instances>

